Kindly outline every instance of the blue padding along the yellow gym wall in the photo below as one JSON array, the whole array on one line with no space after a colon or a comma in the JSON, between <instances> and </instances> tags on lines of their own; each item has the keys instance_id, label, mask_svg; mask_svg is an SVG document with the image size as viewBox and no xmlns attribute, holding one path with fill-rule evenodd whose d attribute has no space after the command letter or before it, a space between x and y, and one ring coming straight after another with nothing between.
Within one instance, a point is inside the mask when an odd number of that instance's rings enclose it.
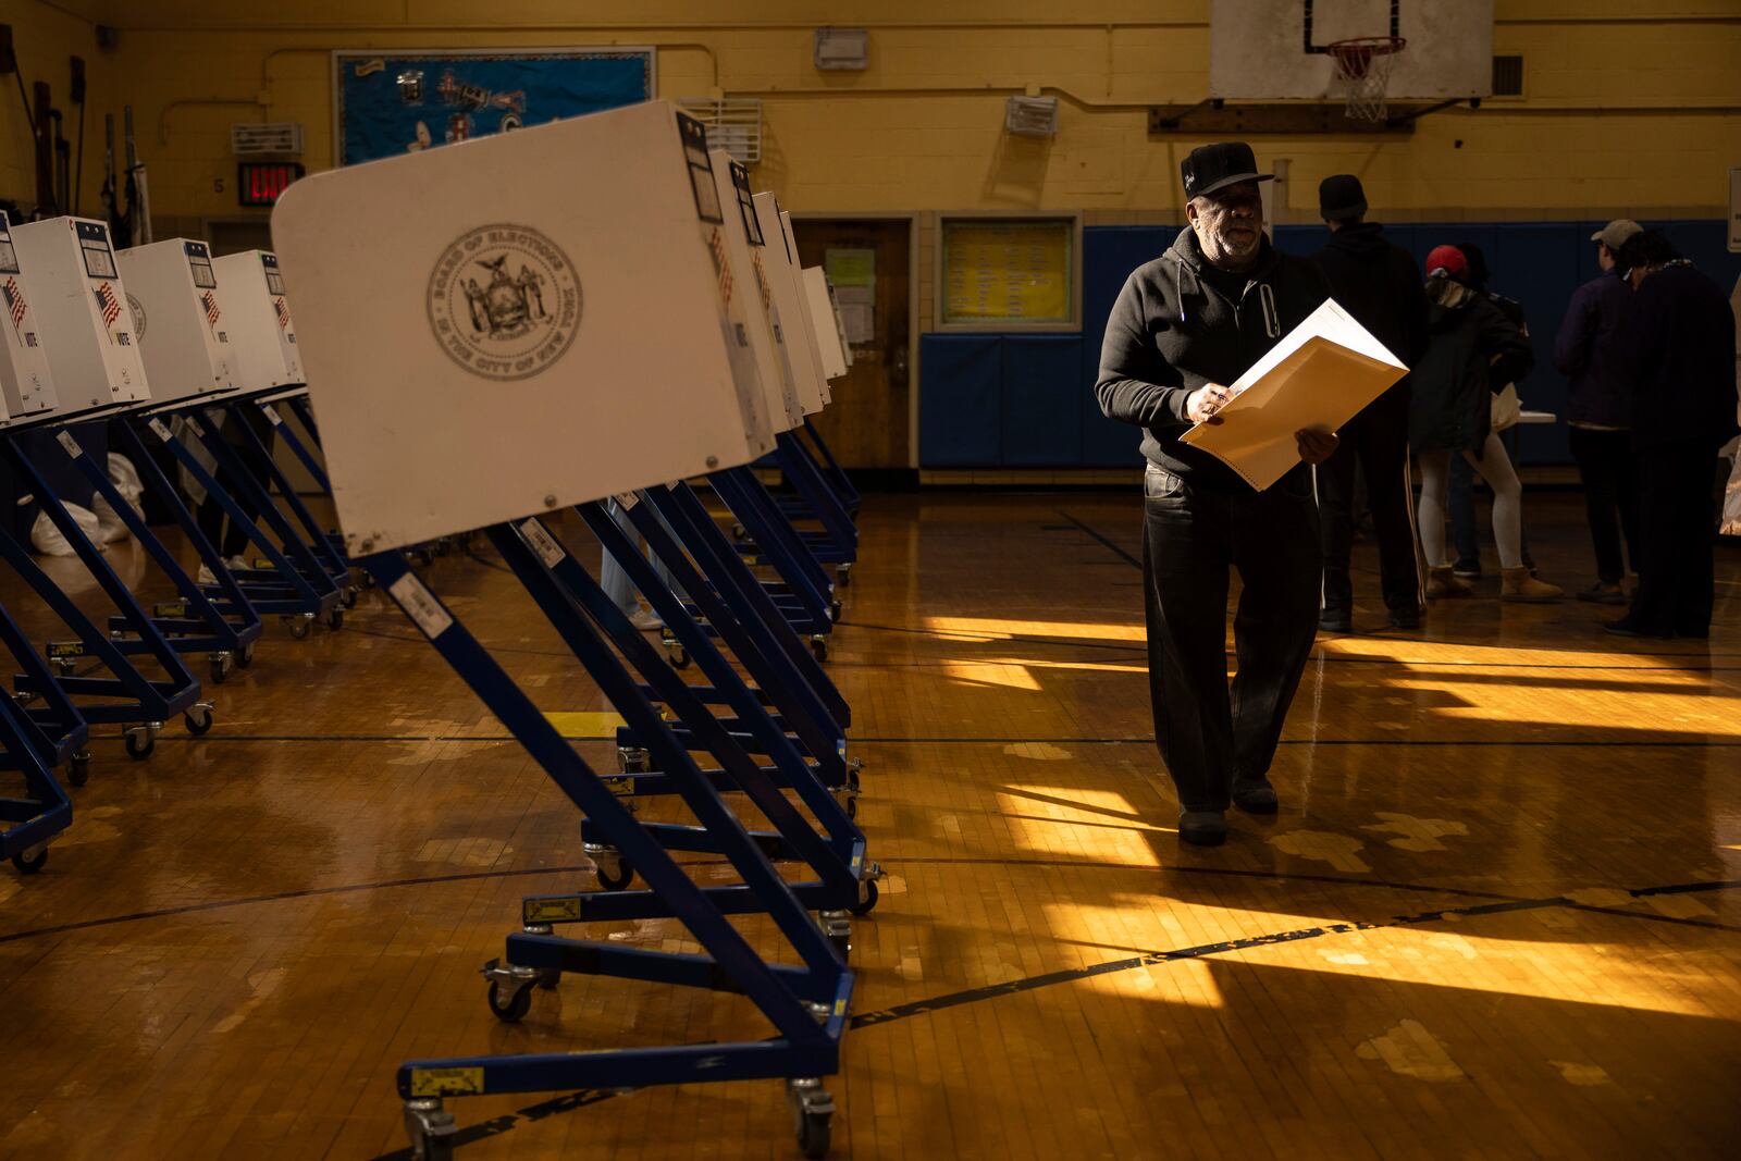
<instances>
[{"instance_id":1,"label":"blue padding along the yellow gym wall","mask_svg":"<svg viewBox=\"0 0 1741 1161\"><path fill-rule=\"evenodd\" d=\"M1492 268L1492 289L1523 305L1536 371L1518 390L1523 406L1562 423L1520 432L1523 463L1570 463L1565 379L1553 367L1553 336L1572 291L1596 277L1590 235L1600 221L1407 223L1388 237L1424 261L1435 245L1475 242ZM1645 223L1727 292L1741 254L1727 251L1722 219ZM1100 414L1093 383L1106 317L1142 263L1165 251L1177 226L1083 230L1081 334L924 334L919 338L919 463L966 466L1137 466L1140 433ZM1309 256L1327 238L1321 225L1276 226L1276 245Z\"/></svg>"}]
</instances>

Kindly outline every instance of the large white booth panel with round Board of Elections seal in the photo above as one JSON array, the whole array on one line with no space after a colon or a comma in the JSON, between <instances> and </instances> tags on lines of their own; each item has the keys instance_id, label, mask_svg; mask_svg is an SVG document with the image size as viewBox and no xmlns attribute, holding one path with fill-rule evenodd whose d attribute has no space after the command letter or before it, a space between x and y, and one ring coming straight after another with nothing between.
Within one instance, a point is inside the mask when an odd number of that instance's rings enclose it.
<instances>
[{"instance_id":1,"label":"large white booth panel with round Board of Elections seal","mask_svg":"<svg viewBox=\"0 0 1741 1161\"><path fill-rule=\"evenodd\" d=\"M350 550L768 451L723 209L658 101L292 185L273 238Z\"/></svg>"}]
</instances>

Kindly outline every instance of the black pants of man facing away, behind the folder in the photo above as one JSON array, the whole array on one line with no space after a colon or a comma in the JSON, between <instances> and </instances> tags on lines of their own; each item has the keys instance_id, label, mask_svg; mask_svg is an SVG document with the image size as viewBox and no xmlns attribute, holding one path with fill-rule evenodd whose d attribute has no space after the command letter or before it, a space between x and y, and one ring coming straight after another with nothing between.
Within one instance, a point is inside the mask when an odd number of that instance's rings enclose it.
<instances>
[{"instance_id":1,"label":"black pants of man facing away, behind the folder","mask_svg":"<svg viewBox=\"0 0 1741 1161\"><path fill-rule=\"evenodd\" d=\"M1318 465L1318 507L1323 522L1323 607L1349 613L1354 587L1348 557L1354 547L1354 465L1367 477L1372 531L1379 536L1384 607L1421 609L1421 571L1408 491L1408 388L1389 390L1339 432L1335 454Z\"/></svg>"}]
</instances>

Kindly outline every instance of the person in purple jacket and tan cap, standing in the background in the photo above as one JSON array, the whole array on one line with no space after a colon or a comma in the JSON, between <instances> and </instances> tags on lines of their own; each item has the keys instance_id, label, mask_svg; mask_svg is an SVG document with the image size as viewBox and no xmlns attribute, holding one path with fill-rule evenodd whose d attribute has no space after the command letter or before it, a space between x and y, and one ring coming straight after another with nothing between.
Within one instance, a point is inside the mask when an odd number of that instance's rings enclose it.
<instances>
[{"instance_id":1,"label":"person in purple jacket and tan cap, standing in the background","mask_svg":"<svg viewBox=\"0 0 1741 1161\"><path fill-rule=\"evenodd\" d=\"M1631 289L1614 277L1614 256L1637 235L1637 221L1621 218L1590 235L1602 277L1586 282L1565 308L1553 339L1553 362L1567 378L1565 421L1572 460L1584 482L1584 515L1596 548L1596 583L1579 601L1626 604L1621 581L1621 536L1626 559L1638 567L1638 470L1631 447L1633 385L1624 343L1633 308ZM1617 517L1617 519L1616 519Z\"/></svg>"}]
</instances>

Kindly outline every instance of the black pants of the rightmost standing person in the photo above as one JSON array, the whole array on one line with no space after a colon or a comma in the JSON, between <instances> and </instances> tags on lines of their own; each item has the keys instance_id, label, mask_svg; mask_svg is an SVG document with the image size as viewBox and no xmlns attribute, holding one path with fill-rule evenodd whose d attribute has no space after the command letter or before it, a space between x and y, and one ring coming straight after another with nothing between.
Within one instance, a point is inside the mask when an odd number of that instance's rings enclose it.
<instances>
[{"instance_id":1,"label":"black pants of the rightmost standing person","mask_svg":"<svg viewBox=\"0 0 1741 1161\"><path fill-rule=\"evenodd\" d=\"M1647 634L1701 637L1717 602L1717 500L1703 442L1677 442L1638 453L1638 588L1628 620Z\"/></svg>"}]
</instances>

